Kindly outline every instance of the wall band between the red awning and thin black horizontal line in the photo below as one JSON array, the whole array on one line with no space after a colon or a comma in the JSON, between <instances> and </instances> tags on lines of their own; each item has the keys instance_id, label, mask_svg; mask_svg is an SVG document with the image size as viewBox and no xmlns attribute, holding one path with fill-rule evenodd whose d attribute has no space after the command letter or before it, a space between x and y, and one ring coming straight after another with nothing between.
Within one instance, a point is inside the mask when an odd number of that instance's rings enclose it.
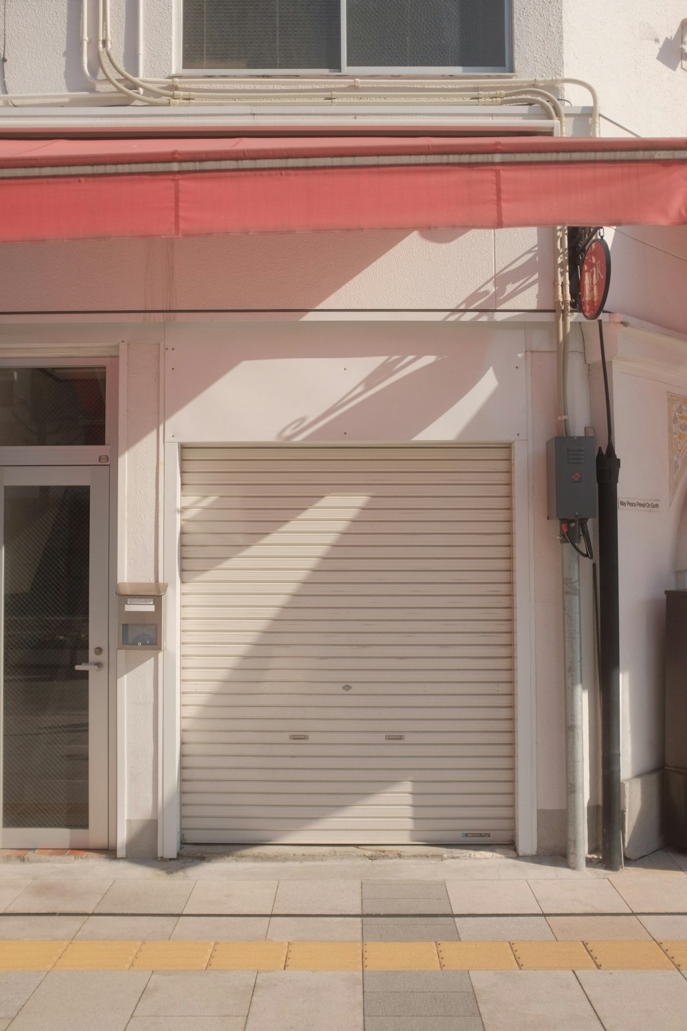
<instances>
[{"instance_id":1,"label":"wall band between the red awning and thin black horizontal line","mask_svg":"<svg viewBox=\"0 0 687 1031\"><path fill-rule=\"evenodd\" d=\"M553 306L549 229L4 244L5 311Z\"/></svg>"}]
</instances>

